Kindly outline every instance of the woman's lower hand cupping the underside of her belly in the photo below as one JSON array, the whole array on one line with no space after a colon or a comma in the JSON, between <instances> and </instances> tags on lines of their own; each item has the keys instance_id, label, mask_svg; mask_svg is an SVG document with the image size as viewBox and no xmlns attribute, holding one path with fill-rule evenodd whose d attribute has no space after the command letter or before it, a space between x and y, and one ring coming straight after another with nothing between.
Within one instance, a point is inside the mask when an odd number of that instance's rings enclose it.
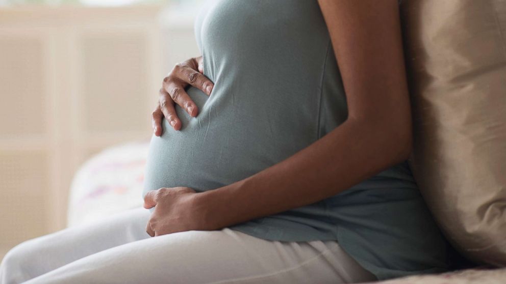
<instances>
[{"instance_id":1,"label":"woman's lower hand cupping the underside of her belly","mask_svg":"<svg viewBox=\"0 0 506 284\"><path fill-rule=\"evenodd\" d=\"M146 225L151 237L206 228L204 212L196 205L199 194L189 187L171 187L151 190L144 196L144 208L155 207Z\"/></svg>"}]
</instances>

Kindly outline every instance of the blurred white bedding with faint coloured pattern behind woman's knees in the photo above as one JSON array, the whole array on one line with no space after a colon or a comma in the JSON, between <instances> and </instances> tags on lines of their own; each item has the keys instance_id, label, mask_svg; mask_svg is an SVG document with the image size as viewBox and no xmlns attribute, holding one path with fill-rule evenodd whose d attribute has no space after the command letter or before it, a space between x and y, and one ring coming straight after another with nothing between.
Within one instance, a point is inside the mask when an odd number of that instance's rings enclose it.
<instances>
[{"instance_id":1,"label":"blurred white bedding with faint coloured pattern behind woman's knees","mask_svg":"<svg viewBox=\"0 0 506 284\"><path fill-rule=\"evenodd\" d=\"M147 141L106 149L84 163L69 192L67 226L143 205Z\"/></svg>"}]
</instances>

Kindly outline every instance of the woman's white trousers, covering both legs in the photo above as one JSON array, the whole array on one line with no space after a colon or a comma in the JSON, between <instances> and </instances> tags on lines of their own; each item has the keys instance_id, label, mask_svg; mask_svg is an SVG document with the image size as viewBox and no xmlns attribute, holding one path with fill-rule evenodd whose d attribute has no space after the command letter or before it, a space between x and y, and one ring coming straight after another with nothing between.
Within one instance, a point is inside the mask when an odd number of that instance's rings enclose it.
<instances>
[{"instance_id":1,"label":"woman's white trousers, covering both legs","mask_svg":"<svg viewBox=\"0 0 506 284\"><path fill-rule=\"evenodd\" d=\"M0 265L0 284L349 283L374 281L336 241L268 241L224 228L150 237L149 210L22 242Z\"/></svg>"}]
</instances>

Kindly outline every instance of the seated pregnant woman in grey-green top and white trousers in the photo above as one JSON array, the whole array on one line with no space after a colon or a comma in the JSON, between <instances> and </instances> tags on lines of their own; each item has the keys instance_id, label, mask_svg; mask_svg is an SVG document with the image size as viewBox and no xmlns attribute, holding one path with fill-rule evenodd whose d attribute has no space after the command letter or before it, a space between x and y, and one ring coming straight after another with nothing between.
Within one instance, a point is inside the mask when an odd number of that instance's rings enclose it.
<instances>
[{"instance_id":1,"label":"seated pregnant woman in grey-green top and white trousers","mask_svg":"<svg viewBox=\"0 0 506 284\"><path fill-rule=\"evenodd\" d=\"M144 208L29 240L2 283L350 283L447 269L406 159L396 0L213 0L163 80ZM147 210L149 209L149 210Z\"/></svg>"}]
</instances>

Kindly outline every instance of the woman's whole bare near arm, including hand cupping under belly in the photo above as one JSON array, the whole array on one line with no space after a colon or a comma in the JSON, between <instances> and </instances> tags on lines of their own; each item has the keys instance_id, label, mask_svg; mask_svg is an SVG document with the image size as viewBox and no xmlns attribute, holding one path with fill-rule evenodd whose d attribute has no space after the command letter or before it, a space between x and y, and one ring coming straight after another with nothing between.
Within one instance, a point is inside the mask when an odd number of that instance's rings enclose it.
<instances>
[{"instance_id":1,"label":"woman's whole bare near arm, including hand cupping under belly","mask_svg":"<svg viewBox=\"0 0 506 284\"><path fill-rule=\"evenodd\" d=\"M236 183L196 193L160 188L150 236L219 230L338 194L409 157L411 109L397 0L318 0L348 102L348 119L286 160ZM337 79L337 78L336 78Z\"/></svg>"}]
</instances>

